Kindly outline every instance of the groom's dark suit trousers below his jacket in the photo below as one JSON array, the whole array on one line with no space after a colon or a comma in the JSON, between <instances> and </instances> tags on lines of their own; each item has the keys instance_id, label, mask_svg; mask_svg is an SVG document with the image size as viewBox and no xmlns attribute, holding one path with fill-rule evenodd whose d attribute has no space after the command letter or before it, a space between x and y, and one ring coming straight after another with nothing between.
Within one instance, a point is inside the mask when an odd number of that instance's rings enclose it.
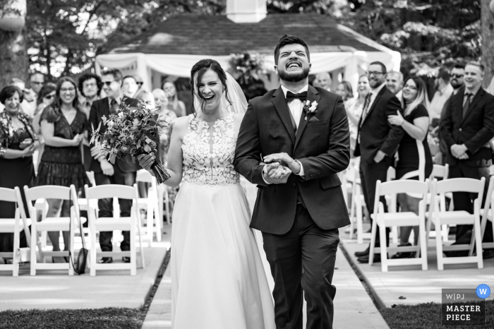
<instances>
[{"instance_id":1,"label":"groom's dark suit trousers below his jacket","mask_svg":"<svg viewBox=\"0 0 494 329\"><path fill-rule=\"evenodd\" d=\"M294 225L286 234L263 232L264 250L275 279L277 329L302 329L303 293L307 329L331 329L336 287L338 229L320 229L306 208L296 207Z\"/></svg>"}]
</instances>

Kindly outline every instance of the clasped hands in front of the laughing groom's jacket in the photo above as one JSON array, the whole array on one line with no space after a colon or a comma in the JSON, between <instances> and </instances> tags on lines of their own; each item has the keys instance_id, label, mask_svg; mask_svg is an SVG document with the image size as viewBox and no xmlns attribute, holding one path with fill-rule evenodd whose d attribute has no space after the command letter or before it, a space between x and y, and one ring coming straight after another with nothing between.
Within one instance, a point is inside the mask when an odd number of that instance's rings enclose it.
<instances>
[{"instance_id":1,"label":"clasped hands in front of the laughing groom's jacket","mask_svg":"<svg viewBox=\"0 0 494 329\"><path fill-rule=\"evenodd\" d=\"M292 172L298 174L301 170L299 162L292 159L287 153L267 155L261 164L265 164L263 177L269 184L285 184Z\"/></svg>"}]
</instances>

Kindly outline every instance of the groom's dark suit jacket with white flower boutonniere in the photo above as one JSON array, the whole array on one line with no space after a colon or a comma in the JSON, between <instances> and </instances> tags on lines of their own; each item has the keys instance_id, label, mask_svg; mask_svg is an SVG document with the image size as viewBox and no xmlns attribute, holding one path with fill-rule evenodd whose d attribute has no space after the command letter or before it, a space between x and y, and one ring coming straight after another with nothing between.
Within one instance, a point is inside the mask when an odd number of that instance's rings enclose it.
<instances>
[{"instance_id":1,"label":"groom's dark suit jacket with white flower boutonniere","mask_svg":"<svg viewBox=\"0 0 494 329\"><path fill-rule=\"evenodd\" d=\"M308 87L307 100L318 102L315 119L302 113L294 131L282 88L249 101L235 152L235 169L253 184L258 198L251 227L271 234L289 231L296 216L297 195L321 229L350 224L338 172L350 160L350 133L342 98L322 88ZM286 184L267 185L261 157L286 152L303 165L304 177L291 174Z\"/></svg>"}]
</instances>

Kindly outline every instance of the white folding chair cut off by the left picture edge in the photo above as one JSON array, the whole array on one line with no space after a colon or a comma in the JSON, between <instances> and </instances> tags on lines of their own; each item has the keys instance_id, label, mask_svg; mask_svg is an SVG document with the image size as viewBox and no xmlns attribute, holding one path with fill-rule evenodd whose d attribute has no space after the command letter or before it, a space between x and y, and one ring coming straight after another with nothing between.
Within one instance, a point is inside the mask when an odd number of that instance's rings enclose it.
<instances>
[{"instance_id":1,"label":"white folding chair cut off by the left picture edge","mask_svg":"<svg viewBox=\"0 0 494 329\"><path fill-rule=\"evenodd\" d=\"M20 189L0 188L0 201L16 203L16 213L14 218L2 218L0 220L1 233L13 233L13 252L0 252L2 258L12 258L12 264L0 264L0 271L12 271L12 276L19 275L20 256L20 232L24 231L28 246L31 245L29 232L30 220L26 218L23 199L20 196Z\"/></svg>"}]
</instances>

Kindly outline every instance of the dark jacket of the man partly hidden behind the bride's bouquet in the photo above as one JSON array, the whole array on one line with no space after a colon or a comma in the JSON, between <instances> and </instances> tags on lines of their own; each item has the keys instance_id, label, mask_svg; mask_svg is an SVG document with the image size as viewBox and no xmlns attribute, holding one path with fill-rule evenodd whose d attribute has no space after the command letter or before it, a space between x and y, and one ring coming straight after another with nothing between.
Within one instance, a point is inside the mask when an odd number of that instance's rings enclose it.
<instances>
[{"instance_id":1,"label":"dark jacket of the man partly hidden behind the bride's bouquet","mask_svg":"<svg viewBox=\"0 0 494 329\"><path fill-rule=\"evenodd\" d=\"M125 100L122 100L122 102L123 101L125 101L125 103L128 104L129 106L134 106L134 107L138 106L139 104L138 100L129 97L125 98ZM104 97L102 100L96 100L95 102L93 102L89 114L88 135L91 136L92 134L92 126L94 126L95 129L97 129L98 125L102 121L101 119L102 116L108 118L109 115L110 115L110 107L109 107L108 97ZM107 126L101 124L100 133L104 133L104 131L107 131ZM125 160L119 160L119 159L115 160L115 165L119 166L121 172L137 172L139 169L141 169L139 164L128 163ZM92 159L91 171L95 173L102 172L101 165L98 160Z\"/></svg>"}]
</instances>

